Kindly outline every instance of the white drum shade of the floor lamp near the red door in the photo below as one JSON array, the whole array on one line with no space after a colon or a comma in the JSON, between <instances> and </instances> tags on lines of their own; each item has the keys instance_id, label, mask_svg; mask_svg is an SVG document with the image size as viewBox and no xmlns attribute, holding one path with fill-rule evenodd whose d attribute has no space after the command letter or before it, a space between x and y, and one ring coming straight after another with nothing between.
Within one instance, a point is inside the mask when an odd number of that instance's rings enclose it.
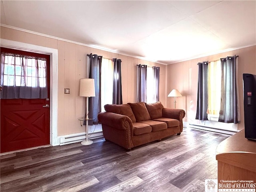
<instances>
[{"instance_id":1,"label":"white drum shade of the floor lamp near the red door","mask_svg":"<svg viewBox=\"0 0 256 192\"><path fill-rule=\"evenodd\" d=\"M95 97L94 79L80 79L80 96Z\"/></svg>"}]
</instances>

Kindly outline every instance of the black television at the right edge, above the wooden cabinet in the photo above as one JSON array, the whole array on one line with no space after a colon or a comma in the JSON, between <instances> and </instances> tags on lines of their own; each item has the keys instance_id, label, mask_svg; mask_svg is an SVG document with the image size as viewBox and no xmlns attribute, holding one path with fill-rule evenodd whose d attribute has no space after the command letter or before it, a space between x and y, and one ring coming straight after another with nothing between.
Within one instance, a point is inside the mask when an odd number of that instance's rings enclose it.
<instances>
[{"instance_id":1,"label":"black television at the right edge, above the wooden cabinet","mask_svg":"<svg viewBox=\"0 0 256 192\"><path fill-rule=\"evenodd\" d=\"M245 138L256 141L256 75L243 74Z\"/></svg>"}]
</instances>

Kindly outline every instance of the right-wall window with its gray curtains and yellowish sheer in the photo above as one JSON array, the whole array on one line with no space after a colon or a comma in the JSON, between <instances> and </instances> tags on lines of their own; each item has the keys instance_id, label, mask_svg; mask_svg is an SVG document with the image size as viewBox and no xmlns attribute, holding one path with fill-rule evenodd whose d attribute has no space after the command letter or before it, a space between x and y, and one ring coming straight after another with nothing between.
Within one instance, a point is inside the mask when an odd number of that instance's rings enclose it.
<instances>
[{"instance_id":1,"label":"right-wall window with its gray curtains and yellowish sheer","mask_svg":"<svg viewBox=\"0 0 256 192\"><path fill-rule=\"evenodd\" d=\"M208 120L209 114L218 118L218 122L240 123L237 57L198 63L196 119Z\"/></svg>"}]
</instances>

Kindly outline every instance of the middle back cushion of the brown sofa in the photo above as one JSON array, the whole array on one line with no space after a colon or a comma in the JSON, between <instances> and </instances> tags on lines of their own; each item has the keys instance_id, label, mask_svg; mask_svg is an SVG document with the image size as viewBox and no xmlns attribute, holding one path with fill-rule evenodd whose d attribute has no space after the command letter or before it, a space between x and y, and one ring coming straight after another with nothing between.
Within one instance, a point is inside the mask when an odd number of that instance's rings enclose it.
<instances>
[{"instance_id":1,"label":"middle back cushion of the brown sofa","mask_svg":"<svg viewBox=\"0 0 256 192\"><path fill-rule=\"evenodd\" d=\"M132 108L132 112L136 118L136 122L150 120L150 115L148 113L148 110L144 102L128 103L128 104Z\"/></svg>"}]
</instances>

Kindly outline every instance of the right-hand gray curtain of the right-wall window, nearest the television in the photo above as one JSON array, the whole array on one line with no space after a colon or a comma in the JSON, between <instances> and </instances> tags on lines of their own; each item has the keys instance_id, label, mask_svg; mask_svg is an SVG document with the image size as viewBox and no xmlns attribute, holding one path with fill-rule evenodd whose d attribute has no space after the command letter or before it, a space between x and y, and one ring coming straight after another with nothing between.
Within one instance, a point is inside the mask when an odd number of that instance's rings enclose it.
<instances>
[{"instance_id":1,"label":"right-hand gray curtain of the right-wall window, nearest the television","mask_svg":"<svg viewBox=\"0 0 256 192\"><path fill-rule=\"evenodd\" d=\"M219 122L240 123L236 56L221 58L222 82Z\"/></svg>"}]
</instances>

